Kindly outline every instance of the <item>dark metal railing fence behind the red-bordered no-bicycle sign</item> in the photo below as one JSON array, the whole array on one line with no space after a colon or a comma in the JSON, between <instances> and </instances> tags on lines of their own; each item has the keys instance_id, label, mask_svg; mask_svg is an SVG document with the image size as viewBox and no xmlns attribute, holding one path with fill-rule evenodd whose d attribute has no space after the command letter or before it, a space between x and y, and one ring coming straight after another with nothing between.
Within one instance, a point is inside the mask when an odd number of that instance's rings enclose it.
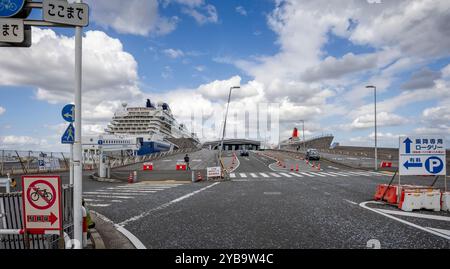
<instances>
[{"instance_id":1,"label":"dark metal railing fence behind the red-bordered no-bicycle sign","mask_svg":"<svg viewBox=\"0 0 450 269\"><path fill-rule=\"evenodd\" d=\"M73 188L62 186L61 209L63 228L73 238ZM0 193L0 230L23 229L22 193ZM0 235L0 249L57 249L59 235Z\"/></svg>"}]
</instances>

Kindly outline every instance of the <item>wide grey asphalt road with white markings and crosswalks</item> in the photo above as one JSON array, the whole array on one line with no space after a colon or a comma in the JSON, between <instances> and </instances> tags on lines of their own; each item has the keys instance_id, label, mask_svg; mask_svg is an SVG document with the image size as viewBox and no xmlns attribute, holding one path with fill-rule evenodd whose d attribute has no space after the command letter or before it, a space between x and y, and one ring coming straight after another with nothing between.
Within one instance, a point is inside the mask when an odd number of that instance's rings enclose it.
<instances>
[{"instance_id":1,"label":"wide grey asphalt road with white markings and crosswalks","mask_svg":"<svg viewBox=\"0 0 450 269\"><path fill-rule=\"evenodd\" d=\"M214 152L197 154L191 158L199 156L202 165L214 163ZM448 212L398 216L392 206L363 204L389 175L323 161L319 171L280 156L286 168L253 152L238 157L231 181L101 183L84 197L147 248L367 248L371 242L381 248L450 248ZM176 158L168 159L161 163L172 166ZM408 180L427 185L433 178ZM395 214L373 211L378 209Z\"/></svg>"}]
</instances>

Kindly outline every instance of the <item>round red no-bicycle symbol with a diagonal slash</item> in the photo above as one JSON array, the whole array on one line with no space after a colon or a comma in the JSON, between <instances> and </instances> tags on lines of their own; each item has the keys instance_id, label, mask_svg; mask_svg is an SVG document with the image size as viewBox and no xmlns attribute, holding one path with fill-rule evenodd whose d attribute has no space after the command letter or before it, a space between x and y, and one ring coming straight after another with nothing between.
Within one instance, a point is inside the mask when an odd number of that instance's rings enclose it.
<instances>
[{"instance_id":1,"label":"round red no-bicycle symbol with a diagonal slash","mask_svg":"<svg viewBox=\"0 0 450 269\"><path fill-rule=\"evenodd\" d=\"M44 184L48 188L39 188L38 184ZM56 190L52 184L45 180L36 180L28 186L27 199L31 206L36 209L45 210L53 206L56 201ZM43 205L38 205L37 201L44 201Z\"/></svg>"}]
</instances>

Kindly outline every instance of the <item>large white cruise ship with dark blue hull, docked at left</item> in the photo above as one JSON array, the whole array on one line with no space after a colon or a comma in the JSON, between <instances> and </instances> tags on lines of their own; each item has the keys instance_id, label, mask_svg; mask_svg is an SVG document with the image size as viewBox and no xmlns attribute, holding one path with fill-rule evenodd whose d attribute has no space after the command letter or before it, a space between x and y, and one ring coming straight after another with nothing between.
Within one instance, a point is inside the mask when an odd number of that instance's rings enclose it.
<instances>
[{"instance_id":1,"label":"large white cruise ship with dark blue hull, docked at left","mask_svg":"<svg viewBox=\"0 0 450 269\"><path fill-rule=\"evenodd\" d=\"M177 122L167 103L154 104L150 99L144 107L123 103L107 125L105 134L83 140L86 149L98 150L100 145L111 150L128 148L139 156L200 143L194 133Z\"/></svg>"}]
</instances>

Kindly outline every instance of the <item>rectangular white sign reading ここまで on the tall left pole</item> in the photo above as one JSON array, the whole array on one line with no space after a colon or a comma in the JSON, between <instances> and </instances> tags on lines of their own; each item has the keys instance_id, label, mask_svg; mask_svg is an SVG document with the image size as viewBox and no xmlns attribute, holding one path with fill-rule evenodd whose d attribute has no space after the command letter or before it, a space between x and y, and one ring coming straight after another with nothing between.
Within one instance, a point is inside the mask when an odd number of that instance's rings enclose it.
<instances>
[{"instance_id":1,"label":"rectangular white sign reading \u3053\u3053\u307e\u3067 on the tall left pole","mask_svg":"<svg viewBox=\"0 0 450 269\"><path fill-rule=\"evenodd\" d=\"M69 4L61 0L44 0L44 21L71 26L89 25L89 6L87 4Z\"/></svg>"}]
</instances>

